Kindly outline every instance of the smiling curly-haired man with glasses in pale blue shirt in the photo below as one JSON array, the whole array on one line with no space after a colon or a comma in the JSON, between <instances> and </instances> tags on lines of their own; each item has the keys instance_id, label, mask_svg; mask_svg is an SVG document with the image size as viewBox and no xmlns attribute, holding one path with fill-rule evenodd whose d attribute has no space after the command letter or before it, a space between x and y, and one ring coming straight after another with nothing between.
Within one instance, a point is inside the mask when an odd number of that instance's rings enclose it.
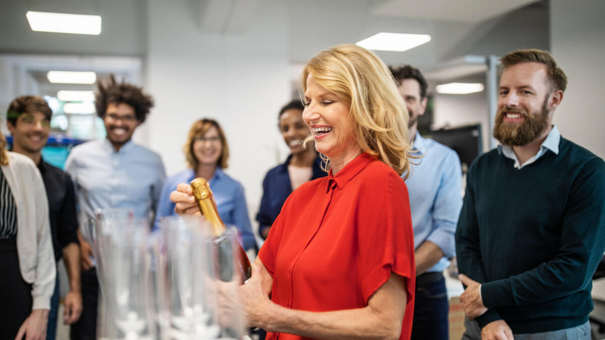
<instances>
[{"instance_id":1,"label":"smiling curly-haired man with glasses in pale blue shirt","mask_svg":"<svg viewBox=\"0 0 605 340\"><path fill-rule=\"evenodd\" d=\"M139 87L117 83L113 75L106 84L99 82L98 90L95 106L107 137L76 146L65 163L65 171L76 183L80 218L94 219L97 209L130 209L134 217L147 218L152 226L166 173L160 155L131 139L145 122L153 99ZM70 335L71 339L96 339L99 285L87 228L80 228L79 235L83 311Z\"/></svg>"}]
</instances>

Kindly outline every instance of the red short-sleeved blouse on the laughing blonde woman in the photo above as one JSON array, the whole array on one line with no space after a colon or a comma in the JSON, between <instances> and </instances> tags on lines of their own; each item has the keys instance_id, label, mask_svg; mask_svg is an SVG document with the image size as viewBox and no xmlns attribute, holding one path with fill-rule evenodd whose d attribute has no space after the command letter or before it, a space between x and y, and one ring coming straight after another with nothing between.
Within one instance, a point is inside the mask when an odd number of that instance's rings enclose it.
<instances>
[{"instance_id":1,"label":"red short-sleeved blouse on the laughing blonde woman","mask_svg":"<svg viewBox=\"0 0 605 340\"><path fill-rule=\"evenodd\" d=\"M273 276L272 301L312 312L365 307L391 271L404 276L400 339L410 339L416 269L408 191L371 155L296 189L258 256ZM269 333L267 339L302 337Z\"/></svg>"}]
</instances>

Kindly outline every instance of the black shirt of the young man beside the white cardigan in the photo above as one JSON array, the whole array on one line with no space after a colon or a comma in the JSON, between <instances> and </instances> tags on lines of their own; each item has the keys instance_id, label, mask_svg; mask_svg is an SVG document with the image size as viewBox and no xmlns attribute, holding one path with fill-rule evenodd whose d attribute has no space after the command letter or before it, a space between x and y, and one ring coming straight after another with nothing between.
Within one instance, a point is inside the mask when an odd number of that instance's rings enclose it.
<instances>
[{"instance_id":1,"label":"black shirt of the young man beside the white cardigan","mask_svg":"<svg viewBox=\"0 0 605 340\"><path fill-rule=\"evenodd\" d=\"M77 240L76 195L70 175L44 160L38 164L48 197L50 234L53 238L54 260L59 261L63 248Z\"/></svg>"}]
</instances>

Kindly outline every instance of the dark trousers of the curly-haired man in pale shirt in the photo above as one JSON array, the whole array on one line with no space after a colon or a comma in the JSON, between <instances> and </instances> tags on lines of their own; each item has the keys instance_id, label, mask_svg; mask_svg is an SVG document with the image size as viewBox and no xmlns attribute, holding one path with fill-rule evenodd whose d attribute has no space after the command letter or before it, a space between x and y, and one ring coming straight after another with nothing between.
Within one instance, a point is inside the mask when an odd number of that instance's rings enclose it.
<instances>
[{"instance_id":1,"label":"dark trousers of the curly-haired man in pale shirt","mask_svg":"<svg viewBox=\"0 0 605 340\"><path fill-rule=\"evenodd\" d=\"M99 281L96 269L82 274L82 315L71 325L71 340L95 340L97 338L97 308L99 301Z\"/></svg>"}]
</instances>

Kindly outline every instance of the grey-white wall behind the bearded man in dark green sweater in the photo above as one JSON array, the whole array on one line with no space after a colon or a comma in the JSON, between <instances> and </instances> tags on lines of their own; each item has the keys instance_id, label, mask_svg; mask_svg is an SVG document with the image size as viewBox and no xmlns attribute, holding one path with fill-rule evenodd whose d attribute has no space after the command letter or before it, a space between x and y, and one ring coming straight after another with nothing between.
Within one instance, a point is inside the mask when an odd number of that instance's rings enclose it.
<instances>
[{"instance_id":1,"label":"grey-white wall behind the bearded man in dark green sweater","mask_svg":"<svg viewBox=\"0 0 605 340\"><path fill-rule=\"evenodd\" d=\"M605 158L605 1L551 0L551 45L567 74L554 122L572 142Z\"/></svg>"}]
</instances>

